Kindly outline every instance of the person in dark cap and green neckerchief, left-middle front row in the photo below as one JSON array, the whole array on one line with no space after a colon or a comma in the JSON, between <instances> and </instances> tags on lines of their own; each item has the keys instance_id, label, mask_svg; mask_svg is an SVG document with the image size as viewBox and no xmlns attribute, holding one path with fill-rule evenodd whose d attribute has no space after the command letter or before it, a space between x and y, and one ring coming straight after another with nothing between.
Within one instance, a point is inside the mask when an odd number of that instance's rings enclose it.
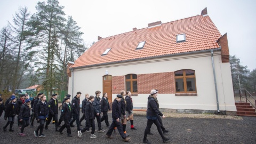
<instances>
[{"instance_id":1,"label":"person in dark cap and green neckerchief, left-middle front row","mask_svg":"<svg viewBox=\"0 0 256 144\"><path fill-rule=\"evenodd\" d=\"M60 114L60 117L61 117L61 119L63 119L64 124L60 127L59 132L60 132L60 134L63 134L62 131L66 127L68 137L72 137L70 124L69 124L70 119L72 117L70 97L65 97L64 100L65 100L65 102L62 103L62 109L61 109L61 114Z\"/></svg>"}]
</instances>

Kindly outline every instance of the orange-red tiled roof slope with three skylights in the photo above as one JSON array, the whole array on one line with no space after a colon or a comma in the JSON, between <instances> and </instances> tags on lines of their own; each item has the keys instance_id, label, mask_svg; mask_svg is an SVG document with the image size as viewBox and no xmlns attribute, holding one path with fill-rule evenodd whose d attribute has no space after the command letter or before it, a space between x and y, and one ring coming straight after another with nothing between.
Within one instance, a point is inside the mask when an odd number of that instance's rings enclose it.
<instances>
[{"instance_id":1,"label":"orange-red tiled roof slope with three skylights","mask_svg":"<svg viewBox=\"0 0 256 144\"><path fill-rule=\"evenodd\" d=\"M186 34L186 42L176 42L177 35ZM103 63L135 60L160 55L219 48L219 30L209 16L185 18L100 39L84 52L71 67L87 67ZM143 49L136 50L146 41ZM108 48L111 50L102 55Z\"/></svg>"}]
</instances>

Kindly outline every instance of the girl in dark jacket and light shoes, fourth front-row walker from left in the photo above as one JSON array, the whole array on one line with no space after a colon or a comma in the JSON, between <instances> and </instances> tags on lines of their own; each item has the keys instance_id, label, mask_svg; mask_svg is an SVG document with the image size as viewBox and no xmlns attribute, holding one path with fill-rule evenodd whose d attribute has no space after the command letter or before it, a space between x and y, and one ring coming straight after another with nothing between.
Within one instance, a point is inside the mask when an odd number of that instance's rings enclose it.
<instances>
[{"instance_id":1,"label":"girl in dark jacket and light shoes, fourth front-row walker from left","mask_svg":"<svg viewBox=\"0 0 256 144\"><path fill-rule=\"evenodd\" d=\"M46 101L46 96L43 95L35 108L36 120L39 121L40 125L37 127L36 131L34 131L35 137L44 138L43 134L45 119L48 117L49 109ZM39 136L38 131L40 130Z\"/></svg>"}]
</instances>

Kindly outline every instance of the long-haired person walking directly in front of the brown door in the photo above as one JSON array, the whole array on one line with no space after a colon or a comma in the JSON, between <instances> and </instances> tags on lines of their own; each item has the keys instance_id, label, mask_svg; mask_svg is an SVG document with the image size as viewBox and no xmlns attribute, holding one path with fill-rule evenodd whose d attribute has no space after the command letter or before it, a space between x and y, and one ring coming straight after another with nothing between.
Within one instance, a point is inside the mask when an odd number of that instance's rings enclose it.
<instances>
[{"instance_id":1,"label":"long-haired person walking directly in front of the brown door","mask_svg":"<svg viewBox=\"0 0 256 144\"><path fill-rule=\"evenodd\" d=\"M108 110L110 111L110 106L109 106L109 103L108 103L108 94L103 93L103 97L101 99L101 111L103 113L103 116L101 117L100 122L105 121L107 127L109 127Z\"/></svg>"}]
</instances>

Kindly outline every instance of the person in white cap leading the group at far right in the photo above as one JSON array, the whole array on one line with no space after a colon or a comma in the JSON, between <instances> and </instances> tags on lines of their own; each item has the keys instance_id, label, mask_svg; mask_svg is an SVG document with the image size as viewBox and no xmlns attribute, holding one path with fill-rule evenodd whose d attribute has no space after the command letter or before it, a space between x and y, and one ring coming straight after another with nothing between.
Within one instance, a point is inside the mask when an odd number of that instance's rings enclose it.
<instances>
[{"instance_id":1,"label":"person in white cap leading the group at far right","mask_svg":"<svg viewBox=\"0 0 256 144\"><path fill-rule=\"evenodd\" d=\"M164 137L163 131L161 129L161 124L159 123L158 119L157 119L157 115L162 116L163 118L165 118L165 116L161 113L161 111L159 111L158 107L159 107L159 103L158 100L156 99L157 97L157 91L156 90L151 90L150 95L148 97L148 106L147 106L147 126L144 132L144 138L143 138L143 143L151 143L148 139L147 139L147 135L150 132L151 126L153 125L153 123L156 125L157 130L159 132L159 134L161 135L163 142L167 142L170 140L170 138Z\"/></svg>"}]
</instances>

